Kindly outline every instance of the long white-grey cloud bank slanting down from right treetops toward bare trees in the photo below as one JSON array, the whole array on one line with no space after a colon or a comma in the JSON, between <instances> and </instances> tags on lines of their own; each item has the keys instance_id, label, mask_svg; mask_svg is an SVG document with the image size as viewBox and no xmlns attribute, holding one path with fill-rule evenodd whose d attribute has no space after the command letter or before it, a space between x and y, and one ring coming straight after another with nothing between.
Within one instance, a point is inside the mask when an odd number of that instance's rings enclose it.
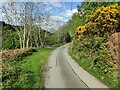
<instances>
[{"instance_id":1,"label":"long white-grey cloud bank slanting down from right treetops toward bare trees","mask_svg":"<svg viewBox=\"0 0 120 90\"><path fill-rule=\"evenodd\" d=\"M45 30L57 30L60 26L64 25L75 12L77 12L77 9L66 10L56 16L50 16L49 24L46 26L46 21L43 21L42 28Z\"/></svg>"}]
</instances>

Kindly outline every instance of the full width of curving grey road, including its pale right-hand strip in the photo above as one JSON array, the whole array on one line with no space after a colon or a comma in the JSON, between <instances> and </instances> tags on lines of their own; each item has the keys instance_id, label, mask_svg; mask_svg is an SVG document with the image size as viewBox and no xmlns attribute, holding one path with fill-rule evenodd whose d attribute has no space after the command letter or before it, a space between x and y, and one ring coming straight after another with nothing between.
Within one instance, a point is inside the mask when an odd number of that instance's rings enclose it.
<instances>
[{"instance_id":1,"label":"full width of curving grey road, including its pale right-hand strip","mask_svg":"<svg viewBox=\"0 0 120 90\"><path fill-rule=\"evenodd\" d=\"M45 73L45 88L108 88L83 70L67 52L68 44L53 51Z\"/></svg>"}]
</instances>

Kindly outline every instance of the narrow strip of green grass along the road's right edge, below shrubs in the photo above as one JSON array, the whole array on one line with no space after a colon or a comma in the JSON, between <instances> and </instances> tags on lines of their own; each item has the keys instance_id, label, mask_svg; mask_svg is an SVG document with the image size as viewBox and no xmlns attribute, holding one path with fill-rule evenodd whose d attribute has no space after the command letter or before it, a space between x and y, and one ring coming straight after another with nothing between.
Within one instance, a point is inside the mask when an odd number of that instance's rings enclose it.
<instances>
[{"instance_id":1,"label":"narrow strip of green grass along the road's right edge, below shrubs","mask_svg":"<svg viewBox=\"0 0 120 90\"><path fill-rule=\"evenodd\" d=\"M106 84L111 90L118 89L118 77L116 76L109 76L107 74L103 74L99 72L100 70L96 67L90 68L91 64L89 62L88 58L81 57L81 59L75 57L73 53L69 51L69 54L71 57L87 72L89 72L91 75L95 76L97 79L99 79L102 83Z\"/></svg>"}]
</instances>

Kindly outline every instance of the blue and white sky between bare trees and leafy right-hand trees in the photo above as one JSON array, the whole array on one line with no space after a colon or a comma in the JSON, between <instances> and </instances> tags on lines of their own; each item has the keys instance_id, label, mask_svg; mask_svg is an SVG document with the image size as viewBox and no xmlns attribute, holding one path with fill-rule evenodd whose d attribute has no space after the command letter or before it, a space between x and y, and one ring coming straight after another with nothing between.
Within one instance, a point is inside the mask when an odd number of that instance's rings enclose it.
<instances>
[{"instance_id":1,"label":"blue and white sky between bare trees and leafy right-hand trees","mask_svg":"<svg viewBox=\"0 0 120 90\"><path fill-rule=\"evenodd\" d=\"M50 12L51 27L58 29L71 19L72 15L77 12L77 6L80 2L50 2L50 6L46 7L46 10ZM72 4L72 8L71 8Z\"/></svg>"}]
</instances>

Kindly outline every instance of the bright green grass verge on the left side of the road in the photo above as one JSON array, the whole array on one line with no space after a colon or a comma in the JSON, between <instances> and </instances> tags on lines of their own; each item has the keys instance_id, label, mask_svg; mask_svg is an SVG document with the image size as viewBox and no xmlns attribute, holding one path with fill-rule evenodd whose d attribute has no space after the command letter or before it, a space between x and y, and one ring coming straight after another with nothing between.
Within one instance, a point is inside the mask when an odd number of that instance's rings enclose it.
<instances>
[{"instance_id":1,"label":"bright green grass verge on the left side of the road","mask_svg":"<svg viewBox=\"0 0 120 90\"><path fill-rule=\"evenodd\" d=\"M16 68L19 74L15 81L14 88L42 88L42 72L44 64L47 62L51 48L38 49L37 52L25 57L23 60L11 62L11 66Z\"/></svg>"}]
</instances>

